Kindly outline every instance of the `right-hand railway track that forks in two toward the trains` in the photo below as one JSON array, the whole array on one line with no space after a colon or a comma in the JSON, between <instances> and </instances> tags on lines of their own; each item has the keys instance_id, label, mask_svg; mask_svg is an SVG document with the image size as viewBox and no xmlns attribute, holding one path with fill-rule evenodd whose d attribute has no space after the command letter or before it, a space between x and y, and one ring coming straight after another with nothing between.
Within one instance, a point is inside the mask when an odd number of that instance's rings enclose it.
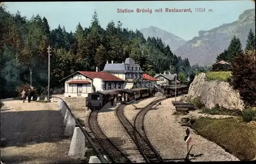
<instances>
[{"instance_id":1,"label":"right-hand railway track that forks in two toward the trains","mask_svg":"<svg viewBox=\"0 0 256 164\"><path fill-rule=\"evenodd\" d=\"M162 101L167 98L159 99L159 97L158 97L157 99L155 99L155 101L153 101L149 105L147 105L144 109L147 109L147 111L148 111L157 102ZM140 132L135 128L135 126L133 126L132 123L129 120L127 120L127 118L124 116L124 113L123 113L124 106L125 105L121 105L120 108L118 108L116 110L117 117L118 117L119 121L121 122L121 124L123 125L123 127L125 128L125 130L127 131L127 133L133 139L134 143L138 147L140 153L142 154L142 156L144 157L146 162L164 162L164 160L160 157L160 155L157 153L157 151L150 144L150 142L148 142L145 132L143 134L144 136L142 136L140 134ZM142 109L141 111L143 111L144 109ZM143 118L137 118L137 119L144 119L144 116L143 116ZM136 121L136 119L135 119L135 121ZM142 120L142 123L143 123L143 120Z\"/></svg>"}]
</instances>

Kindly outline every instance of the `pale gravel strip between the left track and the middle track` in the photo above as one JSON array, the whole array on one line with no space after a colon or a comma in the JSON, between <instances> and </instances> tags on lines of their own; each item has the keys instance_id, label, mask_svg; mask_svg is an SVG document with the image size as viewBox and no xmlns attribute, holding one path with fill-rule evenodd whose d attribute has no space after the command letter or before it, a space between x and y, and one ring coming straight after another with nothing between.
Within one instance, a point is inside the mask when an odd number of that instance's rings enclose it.
<instances>
[{"instance_id":1,"label":"pale gravel strip between the left track and the middle track","mask_svg":"<svg viewBox=\"0 0 256 164\"><path fill-rule=\"evenodd\" d=\"M108 103L98 113L98 123L104 134L133 162L143 162L137 146L116 116L115 107Z\"/></svg>"}]
</instances>

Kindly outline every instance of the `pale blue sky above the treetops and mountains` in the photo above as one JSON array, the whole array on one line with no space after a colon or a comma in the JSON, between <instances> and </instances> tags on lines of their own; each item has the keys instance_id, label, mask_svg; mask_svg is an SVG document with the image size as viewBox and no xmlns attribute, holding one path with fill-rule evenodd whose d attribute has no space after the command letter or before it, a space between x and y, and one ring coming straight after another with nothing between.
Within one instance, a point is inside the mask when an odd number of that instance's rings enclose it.
<instances>
[{"instance_id":1,"label":"pale blue sky above the treetops and mountains","mask_svg":"<svg viewBox=\"0 0 256 164\"><path fill-rule=\"evenodd\" d=\"M198 36L200 30L210 30L236 21L245 10L255 9L254 2L244 1L158 1L158 2L7 2L11 14L17 11L30 19L39 14L46 17L51 30L65 26L75 32L78 22L84 28L91 24L96 9L102 28L111 20L121 21L124 28L140 30L150 26L173 33L185 40ZM162 8L163 12L155 12ZM191 12L165 12L165 9L189 9ZM196 12L196 8L205 11ZM134 10L133 13L118 13L117 9ZM137 13L137 9L152 9L152 13ZM212 9L212 10L209 10Z\"/></svg>"}]
</instances>

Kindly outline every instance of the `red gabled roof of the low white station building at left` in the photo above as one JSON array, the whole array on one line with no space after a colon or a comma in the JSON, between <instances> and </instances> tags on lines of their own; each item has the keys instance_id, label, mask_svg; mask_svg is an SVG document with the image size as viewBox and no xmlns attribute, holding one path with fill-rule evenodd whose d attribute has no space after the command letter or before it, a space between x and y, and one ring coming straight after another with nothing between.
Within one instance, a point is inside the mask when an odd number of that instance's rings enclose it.
<instances>
[{"instance_id":1,"label":"red gabled roof of the low white station building at left","mask_svg":"<svg viewBox=\"0 0 256 164\"><path fill-rule=\"evenodd\" d=\"M109 73L103 73L103 72L90 72L90 71L77 71L69 76L67 76L66 78L63 78L61 79L60 81L62 80L66 80L67 78L75 75L75 74L82 74L90 79L95 79L95 78L99 78L99 79L102 79L103 81L124 81L112 74L109 74Z\"/></svg>"}]
</instances>

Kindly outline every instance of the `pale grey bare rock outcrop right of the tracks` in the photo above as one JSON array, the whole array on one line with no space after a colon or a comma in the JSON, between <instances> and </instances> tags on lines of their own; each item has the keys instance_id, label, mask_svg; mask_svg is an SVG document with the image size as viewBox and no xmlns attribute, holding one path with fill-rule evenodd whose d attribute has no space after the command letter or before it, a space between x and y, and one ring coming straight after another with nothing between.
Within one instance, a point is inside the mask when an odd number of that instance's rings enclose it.
<instances>
[{"instance_id":1,"label":"pale grey bare rock outcrop right of the tracks","mask_svg":"<svg viewBox=\"0 0 256 164\"><path fill-rule=\"evenodd\" d=\"M190 84L187 98L198 99L207 108L211 109L218 104L225 109L244 109L239 92L224 81L206 81L206 74L197 75Z\"/></svg>"}]
</instances>

